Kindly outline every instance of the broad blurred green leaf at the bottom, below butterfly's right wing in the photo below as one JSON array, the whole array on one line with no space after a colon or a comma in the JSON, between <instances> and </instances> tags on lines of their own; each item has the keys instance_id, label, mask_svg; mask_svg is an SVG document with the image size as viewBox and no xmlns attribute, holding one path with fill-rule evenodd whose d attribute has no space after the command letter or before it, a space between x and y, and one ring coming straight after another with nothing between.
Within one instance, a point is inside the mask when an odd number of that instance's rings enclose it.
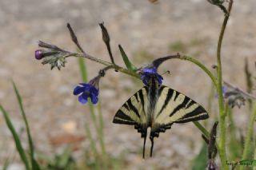
<instances>
[{"instance_id":1,"label":"broad blurred green leaf at the bottom, below butterfly's right wing","mask_svg":"<svg viewBox=\"0 0 256 170\"><path fill-rule=\"evenodd\" d=\"M206 169L207 163L207 144L204 142L198 156L192 162L192 170Z\"/></svg>"}]
</instances>

